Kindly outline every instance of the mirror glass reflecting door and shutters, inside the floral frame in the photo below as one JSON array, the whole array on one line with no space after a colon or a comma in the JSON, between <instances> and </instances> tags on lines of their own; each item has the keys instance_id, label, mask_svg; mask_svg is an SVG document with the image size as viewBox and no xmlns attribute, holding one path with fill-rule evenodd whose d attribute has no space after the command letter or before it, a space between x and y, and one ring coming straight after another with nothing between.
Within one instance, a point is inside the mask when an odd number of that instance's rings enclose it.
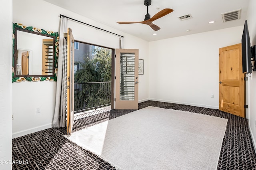
<instances>
[{"instance_id":1,"label":"mirror glass reflecting door and shutters, inside the floral frame","mask_svg":"<svg viewBox=\"0 0 256 170\"><path fill-rule=\"evenodd\" d=\"M54 75L54 36L17 30L16 75Z\"/></svg>"}]
</instances>

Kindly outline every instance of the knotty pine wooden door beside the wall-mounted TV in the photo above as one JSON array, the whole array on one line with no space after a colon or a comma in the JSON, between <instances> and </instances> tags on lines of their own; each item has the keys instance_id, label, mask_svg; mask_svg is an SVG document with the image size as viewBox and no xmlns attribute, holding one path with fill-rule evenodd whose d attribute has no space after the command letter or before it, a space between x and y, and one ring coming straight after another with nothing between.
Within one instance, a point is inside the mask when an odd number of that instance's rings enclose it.
<instances>
[{"instance_id":1,"label":"knotty pine wooden door beside the wall-mounted TV","mask_svg":"<svg viewBox=\"0 0 256 170\"><path fill-rule=\"evenodd\" d=\"M245 117L245 75L242 73L242 45L219 49L219 107L221 111Z\"/></svg>"}]
</instances>

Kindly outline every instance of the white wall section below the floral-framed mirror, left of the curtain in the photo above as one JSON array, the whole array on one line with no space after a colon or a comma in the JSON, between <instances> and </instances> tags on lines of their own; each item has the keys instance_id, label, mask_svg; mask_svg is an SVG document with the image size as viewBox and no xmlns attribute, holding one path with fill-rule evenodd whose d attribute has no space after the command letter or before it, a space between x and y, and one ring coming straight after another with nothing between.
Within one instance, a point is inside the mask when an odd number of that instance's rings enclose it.
<instances>
[{"instance_id":1,"label":"white wall section below the floral-framed mirror, left of the curtain","mask_svg":"<svg viewBox=\"0 0 256 170\"><path fill-rule=\"evenodd\" d=\"M52 81L12 83L12 138L52 127L55 93Z\"/></svg>"}]
</instances>

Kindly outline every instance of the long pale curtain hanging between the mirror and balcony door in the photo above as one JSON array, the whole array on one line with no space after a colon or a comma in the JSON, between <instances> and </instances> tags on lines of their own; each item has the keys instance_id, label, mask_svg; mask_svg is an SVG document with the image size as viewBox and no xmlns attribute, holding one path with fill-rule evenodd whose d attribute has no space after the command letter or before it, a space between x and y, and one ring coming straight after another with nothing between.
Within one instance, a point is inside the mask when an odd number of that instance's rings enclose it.
<instances>
[{"instance_id":1,"label":"long pale curtain hanging between the mirror and balcony door","mask_svg":"<svg viewBox=\"0 0 256 170\"><path fill-rule=\"evenodd\" d=\"M61 16L59 30L59 57L58 57L58 77L56 87L56 104L54 111L53 127L66 126L66 45L64 34L68 30L68 19Z\"/></svg>"}]
</instances>

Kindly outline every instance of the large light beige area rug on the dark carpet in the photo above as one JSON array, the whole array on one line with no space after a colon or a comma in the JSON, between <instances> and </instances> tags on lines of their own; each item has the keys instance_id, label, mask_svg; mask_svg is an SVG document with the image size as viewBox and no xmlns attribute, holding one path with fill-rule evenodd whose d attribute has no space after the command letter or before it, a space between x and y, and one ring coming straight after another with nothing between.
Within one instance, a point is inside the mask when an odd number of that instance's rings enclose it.
<instances>
[{"instance_id":1,"label":"large light beige area rug on the dark carpet","mask_svg":"<svg viewBox=\"0 0 256 170\"><path fill-rule=\"evenodd\" d=\"M227 122L146 107L65 137L116 169L216 170Z\"/></svg>"}]
</instances>

